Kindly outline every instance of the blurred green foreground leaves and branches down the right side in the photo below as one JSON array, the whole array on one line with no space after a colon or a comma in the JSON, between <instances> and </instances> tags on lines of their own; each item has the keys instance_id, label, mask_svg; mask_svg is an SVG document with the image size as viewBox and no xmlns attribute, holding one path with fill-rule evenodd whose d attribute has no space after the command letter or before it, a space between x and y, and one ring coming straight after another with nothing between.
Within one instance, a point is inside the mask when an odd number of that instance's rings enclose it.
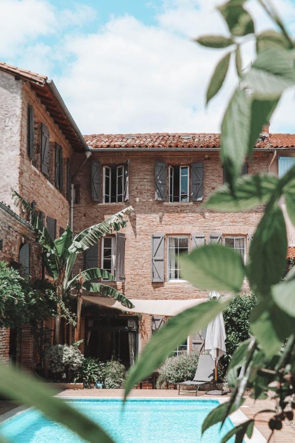
<instances>
[{"instance_id":1,"label":"blurred green foreground leaves and branches down the right side","mask_svg":"<svg viewBox=\"0 0 295 443\"><path fill-rule=\"evenodd\" d=\"M221 246L216 249L216 254L213 253L212 245L208 245L197 248L181 259L182 276L198 289L236 292L246 274L250 288L257 296L257 305L250 316L253 335L239 345L233 363L229 366L228 378L233 387L231 398L227 404L209 413L203 423L203 432L214 423L224 424L226 417L241 405L246 387L251 389L252 398L263 399L267 397L271 383L278 403L273 411L274 416L269 420L271 431L281 429L288 410L295 408L294 402L290 401L295 395L295 308L292 285L295 270L292 269L282 282L286 268L287 235L279 204L281 197L285 196L288 214L295 223L295 167L279 180L266 178L265 174L257 178L239 179L245 157L251 160L262 126L271 118L283 92L295 86L295 41L271 3L265 0L258 2L275 25L276 31L265 30L256 36L254 21L244 8L247 1L229 0L217 8L228 26L229 41L218 35L197 40L203 46L215 48L233 44L239 74L238 85L221 125L220 156L228 186L211 195L207 207L231 212L248 210L266 203L265 215L251 242L246 270L237 254L232 251L233 255L230 256L225 247ZM251 38L256 41L256 59L247 70L241 71L240 51L248 41L249 33L253 34ZM243 38L245 35L246 38ZM213 74L209 98L220 89L225 67L226 64L218 75ZM194 322L190 319L192 311L187 310L170 320L152 337L141 358L129 371L125 395L133 383L148 376L172 348L181 343L184 333L189 335L188 330L197 332L202 328L198 317L200 312L204 323L216 316L216 312L210 316L213 306L209 303L196 307ZM242 312L240 314L243 315ZM245 336L249 334L248 325L247 321L243 331ZM223 441L236 435L236 443L242 442L245 434L251 436L253 425L253 420L241 423Z\"/></svg>"}]
</instances>

